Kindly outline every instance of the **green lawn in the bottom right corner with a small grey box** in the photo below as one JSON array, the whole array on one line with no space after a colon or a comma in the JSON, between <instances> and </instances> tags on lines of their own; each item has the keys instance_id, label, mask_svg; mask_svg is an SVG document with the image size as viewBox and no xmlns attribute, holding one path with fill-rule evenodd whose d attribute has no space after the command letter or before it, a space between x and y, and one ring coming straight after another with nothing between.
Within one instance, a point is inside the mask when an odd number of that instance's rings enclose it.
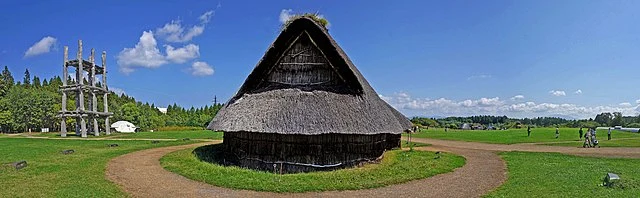
<instances>
[{"instance_id":1,"label":"green lawn in the bottom right corner with a small grey box","mask_svg":"<svg viewBox=\"0 0 640 198\"><path fill-rule=\"evenodd\" d=\"M557 153L503 152L509 179L485 197L638 197L640 159L577 157ZM616 173L627 187L599 186Z\"/></svg>"}]
</instances>

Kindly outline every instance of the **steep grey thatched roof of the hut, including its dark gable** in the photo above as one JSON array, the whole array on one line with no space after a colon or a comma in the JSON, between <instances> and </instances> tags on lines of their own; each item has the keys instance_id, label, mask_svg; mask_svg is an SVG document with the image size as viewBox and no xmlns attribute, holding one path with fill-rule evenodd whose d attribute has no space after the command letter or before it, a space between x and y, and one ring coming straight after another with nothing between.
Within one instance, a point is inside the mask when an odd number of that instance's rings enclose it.
<instances>
[{"instance_id":1,"label":"steep grey thatched roof of the hut, including its dark gable","mask_svg":"<svg viewBox=\"0 0 640 198\"><path fill-rule=\"evenodd\" d=\"M409 120L371 88L327 30L289 23L209 124L225 132L398 134Z\"/></svg>"}]
</instances>

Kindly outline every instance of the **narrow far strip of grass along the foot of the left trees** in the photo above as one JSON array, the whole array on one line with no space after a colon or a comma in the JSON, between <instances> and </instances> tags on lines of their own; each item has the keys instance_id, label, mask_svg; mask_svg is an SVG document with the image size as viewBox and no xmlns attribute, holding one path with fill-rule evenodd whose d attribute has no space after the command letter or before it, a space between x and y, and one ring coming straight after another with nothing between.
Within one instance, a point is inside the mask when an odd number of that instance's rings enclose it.
<instances>
[{"instance_id":1,"label":"narrow far strip of grass along the foot of the left trees","mask_svg":"<svg viewBox=\"0 0 640 198\"><path fill-rule=\"evenodd\" d=\"M32 133L38 137L60 137L60 133ZM78 137L75 133L68 133L67 137ZM119 138L119 139L222 139L222 132L213 132L210 130L197 131L156 131L156 132L137 132L137 133L112 133L111 135L101 134L96 137L88 135L89 138Z\"/></svg>"}]
</instances>

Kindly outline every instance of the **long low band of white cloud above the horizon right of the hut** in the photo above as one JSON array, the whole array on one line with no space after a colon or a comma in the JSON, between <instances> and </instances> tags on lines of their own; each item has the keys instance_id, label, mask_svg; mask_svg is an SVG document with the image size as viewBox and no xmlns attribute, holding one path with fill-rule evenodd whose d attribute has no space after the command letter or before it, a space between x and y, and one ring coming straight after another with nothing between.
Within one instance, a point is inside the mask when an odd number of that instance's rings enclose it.
<instances>
[{"instance_id":1,"label":"long low band of white cloud above the horizon right of the hut","mask_svg":"<svg viewBox=\"0 0 640 198\"><path fill-rule=\"evenodd\" d=\"M563 115L574 118L593 118L602 112L622 112L623 115L638 115L640 103L621 103L614 106L581 106L568 103L508 102L494 98L454 101L446 98L412 98L407 93L396 93L380 97L405 114L423 116L471 116L507 115L512 117L538 117Z\"/></svg>"}]
</instances>

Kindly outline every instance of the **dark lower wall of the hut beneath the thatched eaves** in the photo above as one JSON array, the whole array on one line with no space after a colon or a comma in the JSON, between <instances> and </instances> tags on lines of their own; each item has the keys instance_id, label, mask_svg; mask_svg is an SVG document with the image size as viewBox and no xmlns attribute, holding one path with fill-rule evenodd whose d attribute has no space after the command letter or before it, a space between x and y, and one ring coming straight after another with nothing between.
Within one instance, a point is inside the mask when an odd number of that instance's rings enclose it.
<instances>
[{"instance_id":1,"label":"dark lower wall of the hut beneath the thatched eaves","mask_svg":"<svg viewBox=\"0 0 640 198\"><path fill-rule=\"evenodd\" d=\"M379 159L400 145L399 134L224 134L225 160L240 167L280 173L335 170ZM274 167L275 165L275 167Z\"/></svg>"}]
</instances>

